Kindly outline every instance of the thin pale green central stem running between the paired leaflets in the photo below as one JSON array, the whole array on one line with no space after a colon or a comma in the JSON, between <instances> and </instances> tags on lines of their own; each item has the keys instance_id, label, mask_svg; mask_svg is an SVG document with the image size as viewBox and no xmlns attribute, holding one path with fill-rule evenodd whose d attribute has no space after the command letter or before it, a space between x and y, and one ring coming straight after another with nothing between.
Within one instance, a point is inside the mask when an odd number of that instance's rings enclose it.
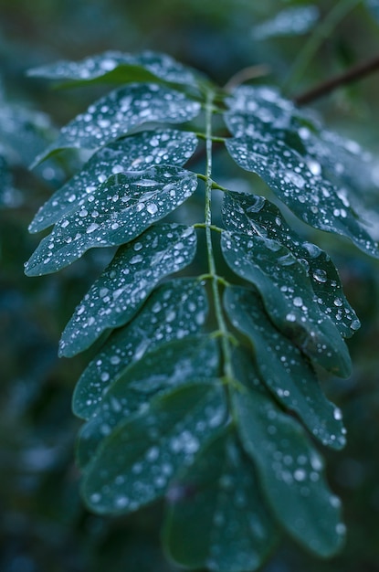
<instances>
[{"instance_id":1,"label":"thin pale green central stem running between the paired leaflets","mask_svg":"<svg viewBox=\"0 0 379 572\"><path fill-rule=\"evenodd\" d=\"M222 311L220 291L219 291L219 277L216 274L216 262L213 252L212 244L212 190L215 188L215 182L212 180L212 114L214 112L213 100L215 93L209 90L206 94L205 103L205 150L206 150L206 166L205 166L205 239L206 251L208 258L208 270L211 280L211 288L214 296L216 322L221 337L221 346L224 356L224 374L227 379L234 379L231 349L230 349L230 334L226 328L226 322ZM218 228L217 228L218 230Z\"/></svg>"}]
</instances>

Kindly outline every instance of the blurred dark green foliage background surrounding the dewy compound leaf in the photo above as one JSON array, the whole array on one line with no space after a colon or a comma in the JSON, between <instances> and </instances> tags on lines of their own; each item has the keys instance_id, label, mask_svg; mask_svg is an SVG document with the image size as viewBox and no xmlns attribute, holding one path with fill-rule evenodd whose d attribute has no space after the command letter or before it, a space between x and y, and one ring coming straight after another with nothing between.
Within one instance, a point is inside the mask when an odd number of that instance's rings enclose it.
<instances>
[{"instance_id":1,"label":"blurred dark green foliage background surrounding the dewy compound leaf","mask_svg":"<svg viewBox=\"0 0 379 572\"><path fill-rule=\"evenodd\" d=\"M283 11L286 16L288 9L310 6L313 16L294 26L292 13L286 31ZM333 10L341 14L331 23ZM37 246L27 225L71 172L75 157L34 172L27 165L54 135L47 116L57 125L68 121L93 100L94 90L47 90L41 80L26 79L26 69L106 49L152 48L220 83L239 69L264 64L268 74L256 81L294 96L379 54L378 31L374 0L0 0L1 570L176 569L159 548L159 505L128 518L104 519L87 513L79 500L73 461L78 421L70 399L90 355L58 360L58 336L105 255L86 257L43 279L26 279L23 264ZM374 155L379 152L378 85L378 75L372 74L313 104L328 127ZM377 212L377 188L368 204ZM378 238L378 228L373 230ZM286 543L266 572L379 569L379 265L342 241L321 239L334 253L347 297L363 323L350 342L352 378L325 381L348 429L347 447L328 459L332 489L345 507L348 541L328 562Z\"/></svg>"}]
</instances>

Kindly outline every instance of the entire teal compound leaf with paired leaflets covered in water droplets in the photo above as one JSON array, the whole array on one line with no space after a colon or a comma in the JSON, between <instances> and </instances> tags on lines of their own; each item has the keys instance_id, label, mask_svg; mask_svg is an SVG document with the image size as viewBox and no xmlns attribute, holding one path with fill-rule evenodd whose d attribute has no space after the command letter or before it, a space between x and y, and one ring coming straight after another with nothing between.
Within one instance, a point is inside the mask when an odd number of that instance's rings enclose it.
<instances>
[{"instance_id":1,"label":"entire teal compound leaf with paired leaflets covered in water droplets","mask_svg":"<svg viewBox=\"0 0 379 572\"><path fill-rule=\"evenodd\" d=\"M257 569L278 527L331 556L343 525L311 439L340 449L344 429L315 371L320 365L349 375L342 336L359 321L327 253L304 242L264 197L218 185L213 116L225 102L229 153L299 217L377 256L356 215L358 201L356 212L350 205L353 186L363 185L353 145L274 90L241 87L229 96L152 52L107 52L32 74L76 85L121 84L37 159L65 147L93 152L37 213L30 230L55 226L26 264L27 274L40 275L88 249L119 247L60 342L67 356L96 341L100 347L73 398L86 420L78 459L89 508L128 514L166 495L164 541L186 567ZM188 131L170 127L200 111ZM183 168L197 138L205 140L205 174ZM176 217L184 224L163 221L174 219L198 179L205 181L204 218L197 217L196 196L196 207ZM224 228L214 224L214 189L225 191ZM205 246L191 267L199 277L164 282L194 260L196 233ZM244 287L220 275L213 233L221 234L226 264Z\"/></svg>"}]
</instances>

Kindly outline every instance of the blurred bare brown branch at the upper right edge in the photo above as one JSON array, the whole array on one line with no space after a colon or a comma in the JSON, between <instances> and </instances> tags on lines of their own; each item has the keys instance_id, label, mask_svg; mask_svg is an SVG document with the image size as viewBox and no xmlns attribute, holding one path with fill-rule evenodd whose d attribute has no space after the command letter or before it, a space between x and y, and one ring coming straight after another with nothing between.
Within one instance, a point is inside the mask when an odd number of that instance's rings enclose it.
<instances>
[{"instance_id":1,"label":"blurred bare brown branch at the upper right edge","mask_svg":"<svg viewBox=\"0 0 379 572\"><path fill-rule=\"evenodd\" d=\"M362 79L376 70L379 70L379 56L365 61L335 78L328 79L311 90L301 93L294 97L293 101L298 105L305 105L306 103L319 99L323 95L331 93L331 91L341 87L342 85L351 83L356 79Z\"/></svg>"}]
</instances>

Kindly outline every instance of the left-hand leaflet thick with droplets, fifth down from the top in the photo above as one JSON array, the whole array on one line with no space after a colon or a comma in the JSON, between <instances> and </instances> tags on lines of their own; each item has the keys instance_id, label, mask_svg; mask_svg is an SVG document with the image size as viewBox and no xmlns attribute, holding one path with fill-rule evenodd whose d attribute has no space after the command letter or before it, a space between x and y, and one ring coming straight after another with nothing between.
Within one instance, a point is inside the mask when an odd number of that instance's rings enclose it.
<instances>
[{"instance_id":1,"label":"left-hand leaflet thick with droplets, fifth down from the top","mask_svg":"<svg viewBox=\"0 0 379 572\"><path fill-rule=\"evenodd\" d=\"M118 249L79 303L59 344L60 355L76 355L100 334L129 322L157 283L195 257L193 227L154 226Z\"/></svg>"}]
</instances>

